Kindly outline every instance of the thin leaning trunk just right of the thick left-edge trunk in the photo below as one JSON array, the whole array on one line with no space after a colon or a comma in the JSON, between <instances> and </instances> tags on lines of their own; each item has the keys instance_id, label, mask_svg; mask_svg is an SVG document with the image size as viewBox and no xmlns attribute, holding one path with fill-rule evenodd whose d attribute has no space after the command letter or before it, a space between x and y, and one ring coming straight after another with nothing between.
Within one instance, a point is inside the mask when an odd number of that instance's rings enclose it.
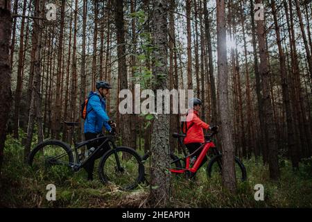
<instances>
[{"instance_id":1,"label":"thin leaning trunk just right of the thick left-edge trunk","mask_svg":"<svg viewBox=\"0 0 312 222\"><path fill-rule=\"evenodd\" d=\"M23 17L21 17L21 33L19 37L19 64L17 67L17 85L15 89L15 110L14 110L14 137L19 139L19 106L21 103L21 71L23 68L23 58L24 58L24 26L25 26L25 14L26 14L27 1L24 0L23 5Z\"/></svg>"}]
</instances>

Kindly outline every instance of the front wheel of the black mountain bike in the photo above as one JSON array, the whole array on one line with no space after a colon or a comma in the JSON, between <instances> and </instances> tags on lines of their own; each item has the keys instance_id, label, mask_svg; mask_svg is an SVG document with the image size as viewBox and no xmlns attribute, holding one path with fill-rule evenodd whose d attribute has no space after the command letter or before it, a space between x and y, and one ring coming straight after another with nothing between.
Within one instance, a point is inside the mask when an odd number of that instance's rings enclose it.
<instances>
[{"instance_id":1,"label":"front wheel of the black mountain bike","mask_svg":"<svg viewBox=\"0 0 312 222\"><path fill-rule=\"evenodd\" d=\"M135 189L144 177L141 161L134 149L119 146L103 155L98 164L98 175L104 184L114 184L119 189Z\"/></svg>"}]
</instances>

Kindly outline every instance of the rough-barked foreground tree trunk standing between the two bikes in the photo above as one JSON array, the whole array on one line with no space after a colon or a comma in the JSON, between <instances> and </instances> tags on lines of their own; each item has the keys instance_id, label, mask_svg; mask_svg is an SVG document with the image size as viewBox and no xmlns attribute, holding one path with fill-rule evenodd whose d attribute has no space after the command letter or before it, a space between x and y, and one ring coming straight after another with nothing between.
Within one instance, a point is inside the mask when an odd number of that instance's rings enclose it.
<instances>
[{"instance_id":1,"label":"rough-barked foreground tree trunk standing between the two bikes","mask_svg":"<svg viewBox=\"0 0 312 222\"><path fill-rule=\"evenodd\" d=\"M155 89L167 89L167 35L168 35L168 1L153 1L152 36L156 49L153 51L155 62L162 66L153 66ZM164 111L164 110L163 110ZM166 207L169 200L170 175L169 168L169 120L168 114L157 114L153 122L151 146L151 182L150 203L154 207Z\"/></svg>"}]
</instances>

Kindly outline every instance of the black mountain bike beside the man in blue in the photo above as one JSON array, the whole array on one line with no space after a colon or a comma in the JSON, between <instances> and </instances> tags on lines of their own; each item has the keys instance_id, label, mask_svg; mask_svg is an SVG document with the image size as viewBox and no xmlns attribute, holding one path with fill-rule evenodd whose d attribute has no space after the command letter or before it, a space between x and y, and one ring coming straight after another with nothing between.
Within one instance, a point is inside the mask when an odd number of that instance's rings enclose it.
<instances>
[{"instance_id":1,"label":"black mountain bike beside the man in blue","mask_svg":"<svg viewBox=\"0 0 312 222\"><path fill-rule=\"evenodd\" d=\"M134 189L144 178L144 165L137 152L127 146L116 146L114 135L98 135L95 139L89 139L84 142L76 143L75 126L79 123L66 122L71 127L74 147L60 140L49 139L37 144L28 157L28 164L36 173L49 175L49 171L56 171L62 175L67 171L79 171L85 167L92 157L102 155L98 164L98 176L101 181L107 185L113 183L119 189ZM85 157L85 146L89 143L103 141L100 146Z\"/></svg>"}]
</instances>

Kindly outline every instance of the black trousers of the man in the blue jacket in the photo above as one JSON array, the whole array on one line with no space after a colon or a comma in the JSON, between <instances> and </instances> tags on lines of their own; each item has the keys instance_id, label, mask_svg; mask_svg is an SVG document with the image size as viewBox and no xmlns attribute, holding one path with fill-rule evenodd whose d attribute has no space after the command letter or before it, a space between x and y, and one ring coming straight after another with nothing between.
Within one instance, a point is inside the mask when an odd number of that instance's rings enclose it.
<instances>
[{"instance_id":1,"label":"black trousers of the man in the blue jacket","mask_svg":"<svg viewBox=\"0 0 312 222\"><path fill-rule=\"evenodd\" d=\"M85 133L85 140L94 139L96 138L98 133ZM87 149L89 151L90 148L98 148L98 146L101 146L101 144L104 142L105 139L97 139L94 140L94 142L91 142L87 144ZM85 164L85 171L88 173L88 180L93 180L93 171L94 171L94 162L103 156L103 154L108 151L110 147L104 147L101 149L101 152L98 153L98 155L92 157L88 160L88 162Z\"/></svg>"}]
</instances>

